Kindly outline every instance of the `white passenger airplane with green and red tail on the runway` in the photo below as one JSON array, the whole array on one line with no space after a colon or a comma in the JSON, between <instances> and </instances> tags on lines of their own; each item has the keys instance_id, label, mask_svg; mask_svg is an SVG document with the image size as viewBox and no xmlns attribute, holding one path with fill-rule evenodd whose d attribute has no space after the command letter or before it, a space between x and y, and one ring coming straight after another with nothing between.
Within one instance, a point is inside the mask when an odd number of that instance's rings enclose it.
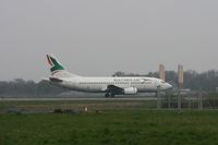
<instances>
[{"instance_id":1,"label":"white passenger airplane with green and red tail on the runway","mask_svg":"<svg viewBox=\"0 0 218 145\"><path fill-rule=\"evenodd\" d=\"M172 88L156 77L87 77L70 73L53 55L47 55L51 76L44 78L53 85L86 93L105 93L105 97L157 93Z\"/></svg>"}]
</instances>

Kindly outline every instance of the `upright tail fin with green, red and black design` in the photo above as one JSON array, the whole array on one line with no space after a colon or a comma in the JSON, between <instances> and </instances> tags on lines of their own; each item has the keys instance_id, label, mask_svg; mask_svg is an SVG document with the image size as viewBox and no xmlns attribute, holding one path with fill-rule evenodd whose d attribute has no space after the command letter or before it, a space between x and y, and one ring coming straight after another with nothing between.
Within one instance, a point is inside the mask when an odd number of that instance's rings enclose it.
<instances>
[{"instance_id":1,"label":"upright tail fin with green, red and black design","mask_svg":"<svg viewBox=\"0 0 218 145\"><path fill-rule=\"evenodd\" d=\"M65 68L58 61L53 55L47 55L48 63L50 64L51 75L55 77L73 77L75 74L69 73Z\"/></svg>"}]
</instances>

